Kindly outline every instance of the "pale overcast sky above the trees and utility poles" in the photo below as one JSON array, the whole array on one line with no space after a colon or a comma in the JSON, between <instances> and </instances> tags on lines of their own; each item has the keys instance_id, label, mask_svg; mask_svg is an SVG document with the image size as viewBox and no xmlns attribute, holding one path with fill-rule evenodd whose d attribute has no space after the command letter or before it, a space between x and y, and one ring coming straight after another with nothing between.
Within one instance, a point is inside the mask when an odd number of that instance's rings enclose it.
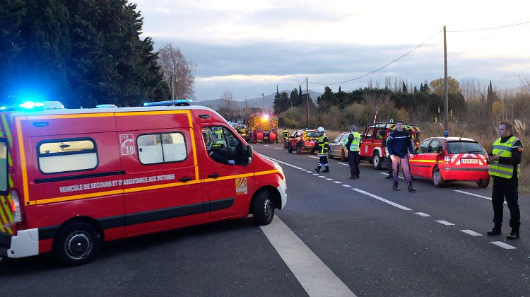
<instances>
[{"instance_id":1,"label":"pale overcast sky above the trees and utility poles","mask_svg":"<svg viewBox=\"0 0 530 297\"><path fill-rule=\"evenodd\" d=\"M420 85L444 76L447 26L449 76L501 88L530 79L530 1L313 1L129 0L144 18L142 37L155 50L179 47L196 63L196 100L257 97L298 88L309 77L336 83L378 69L425 42L398 62L348 83L343 91L385 77ZM430 4L432 3L432 4ZM331 85L338 91L338 84Z\"/></svg>"}]
</instances>

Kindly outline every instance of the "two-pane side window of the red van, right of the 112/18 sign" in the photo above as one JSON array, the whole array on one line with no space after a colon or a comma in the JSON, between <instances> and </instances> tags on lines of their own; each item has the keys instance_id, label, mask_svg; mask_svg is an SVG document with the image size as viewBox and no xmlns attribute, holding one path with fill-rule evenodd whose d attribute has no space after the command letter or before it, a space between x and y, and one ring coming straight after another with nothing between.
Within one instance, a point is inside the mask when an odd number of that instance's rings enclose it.
<instances>
[{"instance_id":1,"label":"two-pane side window of the red van, right of the 112/18 sign","mask_svg":"<svg viewBox=\"0 0 530 297\"><path fill-rule=\"evenodd\" d=\"M186 141L182 133L142 134L136 139L138 156L143 165L184 161Z\"/></svg>"}]
</instances>

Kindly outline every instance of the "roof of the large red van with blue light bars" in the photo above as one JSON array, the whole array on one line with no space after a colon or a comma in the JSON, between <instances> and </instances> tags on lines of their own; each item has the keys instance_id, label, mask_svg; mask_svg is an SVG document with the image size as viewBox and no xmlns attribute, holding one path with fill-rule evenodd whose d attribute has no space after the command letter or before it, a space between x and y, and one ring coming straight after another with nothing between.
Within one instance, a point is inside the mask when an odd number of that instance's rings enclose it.
<instances>
[{"instance_id":1,"label":"roof of the large red van with blue light bars","mask_svg":"<svg viewBox=\"0 0 530 297\"><path fill-rule=\"evenodd\" d=\"M105 107L105 108L75 108L75 109L57 109L57 110L28 110L28 111L9 111L11 116L28 116L28 115L76 115L85 113L104 113L104 112L147 112L163 110L206 110L217 113L210 107L201 105L190 106L153 106L153 107Z\"/></svg>"}]
</instances>

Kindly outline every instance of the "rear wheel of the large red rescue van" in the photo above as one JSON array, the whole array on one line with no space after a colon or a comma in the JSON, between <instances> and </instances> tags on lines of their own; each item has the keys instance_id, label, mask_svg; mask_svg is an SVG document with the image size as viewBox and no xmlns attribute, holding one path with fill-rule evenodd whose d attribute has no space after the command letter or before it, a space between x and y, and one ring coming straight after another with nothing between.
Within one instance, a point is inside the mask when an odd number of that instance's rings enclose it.
<instances>
[{"instance_id":1,"label":"rear wheel of the large red rescue van","mask_svg":"<svg viewBox=\"0 0 530 297\"><path fill-rule=\"evenodd\" d=\"M101 236L89 223L70 223L54 239L57 260L66 266L86 264L100 250Z\"/></svg>"}]
</instances>

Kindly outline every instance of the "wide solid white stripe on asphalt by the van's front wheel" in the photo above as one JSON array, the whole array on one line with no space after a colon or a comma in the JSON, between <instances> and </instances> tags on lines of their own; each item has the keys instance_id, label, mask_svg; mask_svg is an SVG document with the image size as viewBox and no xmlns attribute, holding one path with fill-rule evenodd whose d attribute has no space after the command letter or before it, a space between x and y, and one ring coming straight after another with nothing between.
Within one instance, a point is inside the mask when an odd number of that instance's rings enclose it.
<instances>
[{"instance_id":1,"label":"wide solid white stripe on asphalt by the van's front wheel","mask_svg":"<svg viewBox=\"0 0 530 297\"><path fill-rule=\"evenodd\" d=\"M278 216L261 230L309 296L355 296Z\"/></svg>"}]
</instances>

